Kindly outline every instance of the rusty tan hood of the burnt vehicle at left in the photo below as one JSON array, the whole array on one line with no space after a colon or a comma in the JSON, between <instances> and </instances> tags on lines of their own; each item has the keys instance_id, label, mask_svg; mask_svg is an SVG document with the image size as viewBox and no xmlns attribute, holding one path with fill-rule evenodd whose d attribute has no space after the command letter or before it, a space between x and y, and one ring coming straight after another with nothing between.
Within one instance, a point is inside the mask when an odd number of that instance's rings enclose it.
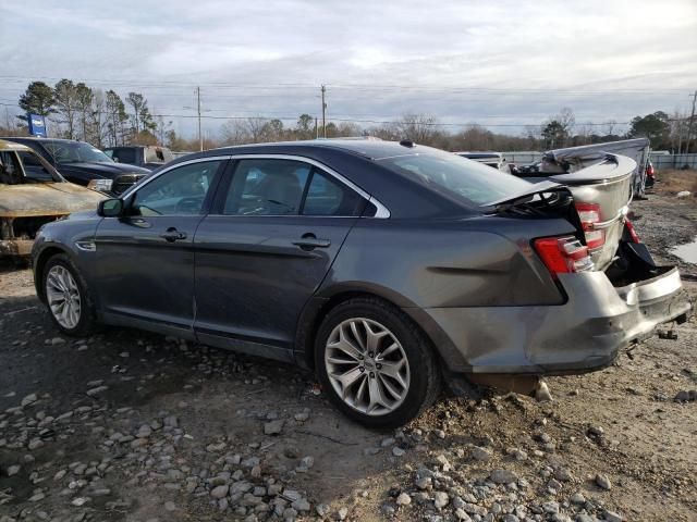
<instances>
[{"instance_id":1,"label":"rusty tan hood of the burnt vehicle at left","mask_svg":"<svg viewBox=\"0 0 697 522\"><path fill-rule=\"evenodd\" d=\"M106 196L72 183L0 185L0 217L65 215L95 209Z\"/></svg>"}]
</instances>

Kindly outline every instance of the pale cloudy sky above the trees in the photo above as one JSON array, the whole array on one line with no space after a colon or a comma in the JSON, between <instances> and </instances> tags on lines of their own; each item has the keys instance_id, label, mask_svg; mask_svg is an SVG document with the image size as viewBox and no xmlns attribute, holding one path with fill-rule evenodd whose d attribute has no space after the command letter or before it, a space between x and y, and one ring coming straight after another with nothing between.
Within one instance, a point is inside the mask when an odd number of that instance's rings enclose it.
<instances>
[{"instance_id":1,"label":"pale cloudy sky above the trees","mask_svg":"<svg viewBox=\"0 0 697 522\"><path fill-rule=\"evenodd\" d=\"M0 111L66 77L138 91L181 134L301 113L364 127L405 113L519 134L688 112L695 0L0 0ZM615 127L616 129L617 127Z\"/></svg>"}]
</instances>

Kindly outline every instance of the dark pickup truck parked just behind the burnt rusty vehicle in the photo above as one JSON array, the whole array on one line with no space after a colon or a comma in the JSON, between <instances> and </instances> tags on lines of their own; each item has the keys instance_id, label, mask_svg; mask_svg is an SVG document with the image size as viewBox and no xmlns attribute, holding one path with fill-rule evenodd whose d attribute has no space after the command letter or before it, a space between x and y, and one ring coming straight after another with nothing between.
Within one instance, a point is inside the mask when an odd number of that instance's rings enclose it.
<instances>
[{"instance_id":1,"label":"dark pickup truck parked just behind the burnt rusty vehicle","mask_svg":"<svg viewBox=\"0 0 697 522\"><path fill-rule=\"evenodd\" d=\"M69 182L119 196L150 174L147 169L115 163L85 141L54 138L0 138L25 145L48 161Z\"/></svg>"}]
</instances>

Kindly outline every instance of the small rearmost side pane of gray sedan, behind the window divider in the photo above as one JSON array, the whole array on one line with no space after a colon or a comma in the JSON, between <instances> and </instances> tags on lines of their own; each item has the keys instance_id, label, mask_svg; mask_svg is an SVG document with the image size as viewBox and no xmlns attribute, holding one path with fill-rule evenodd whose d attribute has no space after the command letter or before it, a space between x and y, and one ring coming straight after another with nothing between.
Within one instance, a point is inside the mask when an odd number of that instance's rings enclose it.
<instances>
[{"instance_id":1,"label":"small rearmost side pane of gray sedan, behind the window divider","mask_svg":"<svg viewBox=\"0 0 697 522\"><path fill-rule=\"evenodd\" d=\"M321 171L314 170L303 215L360 215L365 199Z\"/></svg>"}]
</instances>

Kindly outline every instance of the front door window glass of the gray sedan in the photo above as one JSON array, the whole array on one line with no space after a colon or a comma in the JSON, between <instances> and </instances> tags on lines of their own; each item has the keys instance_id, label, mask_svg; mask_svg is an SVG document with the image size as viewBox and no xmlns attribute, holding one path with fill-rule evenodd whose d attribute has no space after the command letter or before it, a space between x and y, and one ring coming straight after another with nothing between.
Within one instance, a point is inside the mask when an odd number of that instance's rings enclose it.
<instances>
[{"instance_id":1,"label":"front door window glass of the gray sedan","mask_svg":"<svg viewBox=\"0 0 697 522\"><path fill-rule=\"evenodd\" d=\"M183 165L166 172L135 192L134 215L199 214L206 195L224 160Z\"/></svg>"}]
</instances>

